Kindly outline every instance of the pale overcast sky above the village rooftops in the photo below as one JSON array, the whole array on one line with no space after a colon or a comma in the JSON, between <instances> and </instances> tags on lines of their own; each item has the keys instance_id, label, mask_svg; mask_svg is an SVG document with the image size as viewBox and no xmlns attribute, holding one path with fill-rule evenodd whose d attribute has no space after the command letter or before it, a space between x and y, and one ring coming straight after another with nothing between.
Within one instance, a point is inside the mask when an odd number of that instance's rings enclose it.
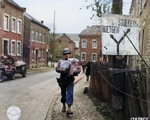
<instances>
[{"instance_id":1,"label":"pale overcast sky above the village rooftops","mask_svg":"<svg viewBox=\"0 0 150 120\"><path fill-rule=\"evenodd\" d=\"M53 32L55 11L55 33L81 33L87 26L100 25L99 20L90 19L93 12L85 7L85 0L14 0L26 12ZM131 0L123 0L123 14L128 14ZM80 10L80 8L82 8Z\"/></svg>"}]
</instances>

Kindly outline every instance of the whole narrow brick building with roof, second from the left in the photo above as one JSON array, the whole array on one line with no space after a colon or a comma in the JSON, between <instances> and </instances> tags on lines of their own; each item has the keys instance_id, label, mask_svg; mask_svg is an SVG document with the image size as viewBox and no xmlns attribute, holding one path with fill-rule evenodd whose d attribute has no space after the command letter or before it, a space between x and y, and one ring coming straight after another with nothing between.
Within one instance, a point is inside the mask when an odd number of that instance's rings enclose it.
<instances>
[{"instance_id":1,"label":"whole narrow brick building with roof, second from the left","mask_svg":"<svg viewBox=\"0 0 150 120\"><path fill-rule=\"evenodd\" d=\"M50 29L24 12L23 60L28 68L48 65Z\"/></svg>"}]
</instances>

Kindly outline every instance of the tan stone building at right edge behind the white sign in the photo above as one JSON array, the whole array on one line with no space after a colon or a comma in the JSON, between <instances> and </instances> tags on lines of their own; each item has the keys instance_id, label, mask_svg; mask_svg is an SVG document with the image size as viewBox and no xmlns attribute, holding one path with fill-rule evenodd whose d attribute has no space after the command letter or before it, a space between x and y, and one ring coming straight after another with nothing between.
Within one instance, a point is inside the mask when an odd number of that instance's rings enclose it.
<instances>
[{"instance_id":1,"label":"tan stone building at right edge behind the white sign","mask_svg":"<svg viewBox=\"0 0 150 120\"><path fill-rule=\"evenodd\" d=\"M139 20L139 53L150 66L150 0L132 0L130 15L138 16ZM128 56L129 67L146 66L140 56Z\"/></svg>"}]
</instances>

